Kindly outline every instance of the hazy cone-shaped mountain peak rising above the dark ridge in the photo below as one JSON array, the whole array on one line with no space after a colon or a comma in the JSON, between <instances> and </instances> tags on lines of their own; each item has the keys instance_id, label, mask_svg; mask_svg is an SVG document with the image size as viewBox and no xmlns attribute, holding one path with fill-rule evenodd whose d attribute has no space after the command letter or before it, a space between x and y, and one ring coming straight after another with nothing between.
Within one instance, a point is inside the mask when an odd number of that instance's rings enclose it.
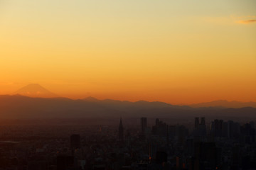
<instances>
[{"instance_id":1,"label":"hazy cone-shaped mountain peak rising above the dark ridge","mask_svg":"<svg viewBox=\"0 0 256 170\"><path fill-rule=\"evenodd\" d=\"M58 95L53 94L47 89L43 88L39 84L28 84L18 89L14 94L20 94L22 96L36 97L36 98L55 98Z\"/></svg>"}]
</instances>

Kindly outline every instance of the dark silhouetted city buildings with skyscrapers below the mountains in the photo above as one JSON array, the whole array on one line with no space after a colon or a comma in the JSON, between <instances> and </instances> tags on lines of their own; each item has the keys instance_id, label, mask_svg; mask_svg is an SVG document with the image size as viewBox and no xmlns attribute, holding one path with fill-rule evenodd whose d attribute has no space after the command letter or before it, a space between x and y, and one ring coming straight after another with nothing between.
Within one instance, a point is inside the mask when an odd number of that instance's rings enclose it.
<instances>
[{"instance_id":1,"label":"dark silhouetted city buildings with skyscrapers below the mountains","mask_svg":"<svg viewBox=\"0 0 256 170\"><path fill-rule=\"evenodd\" d=\"M140 118L140 126L127 128L120 119L119 126L63 132L0 142L0 170L256 169L254 122L195 118L188 128Z\"/></svg>"}]
</instances>

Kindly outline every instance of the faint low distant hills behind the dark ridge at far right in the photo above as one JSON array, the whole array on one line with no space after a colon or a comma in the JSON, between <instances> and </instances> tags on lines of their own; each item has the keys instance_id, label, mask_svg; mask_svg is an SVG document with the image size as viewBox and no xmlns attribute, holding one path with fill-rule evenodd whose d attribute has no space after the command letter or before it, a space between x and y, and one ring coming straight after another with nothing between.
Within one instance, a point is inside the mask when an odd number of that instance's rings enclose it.
<instances>
[{"instance_id":1,"label":"faint low distant hills behind the dark ridge at far right","mask_svg":"<svg viewBox=\"0 0 256 170\"><path fill-rule=\"evenodd\" d=\"M256 108L256 102L239 102L239 101L210 101L206 103L196 103L188 105L192 108L202 108L202 107L219 107L219 108L245 108L253 107Z\"/></svg>"}]
</instances>

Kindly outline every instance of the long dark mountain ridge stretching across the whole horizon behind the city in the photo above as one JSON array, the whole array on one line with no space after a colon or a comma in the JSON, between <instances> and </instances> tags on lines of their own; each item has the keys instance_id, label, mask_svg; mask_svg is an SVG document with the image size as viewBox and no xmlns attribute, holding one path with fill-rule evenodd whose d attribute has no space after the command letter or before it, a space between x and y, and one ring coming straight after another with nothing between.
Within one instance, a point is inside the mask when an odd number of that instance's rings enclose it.
<instances>
[{"instance_id":1,"label":"long dark mountain ridge stretching across the whole horizon behind the city","mask_svg":"<svg viewBox=\"0 0 256 170\"><path fill-rule=\"evenodd\" d=\"M0 96L0 119L33 118L256 118L256 108L191 108L163 102L114 101L85 98L31 98L21 95Z\"/></svg>"}]
</instances>

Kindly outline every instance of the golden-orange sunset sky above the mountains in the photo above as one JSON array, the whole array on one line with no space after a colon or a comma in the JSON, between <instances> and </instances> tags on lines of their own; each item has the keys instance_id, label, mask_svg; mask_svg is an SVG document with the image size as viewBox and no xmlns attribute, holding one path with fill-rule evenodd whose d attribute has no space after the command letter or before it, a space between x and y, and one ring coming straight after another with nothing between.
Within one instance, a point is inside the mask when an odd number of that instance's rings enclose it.
<instances>
[{"instance_id":1,"label":"golden-orange sunset sky above the mountains","mask_svg":"<svg viewBox=\"0 0 256 170\"><path fill-rule=\"evenodd\" d=\"M0 0L0 94L256 101L254 0Z\"/></svg>"}]
</instances>

